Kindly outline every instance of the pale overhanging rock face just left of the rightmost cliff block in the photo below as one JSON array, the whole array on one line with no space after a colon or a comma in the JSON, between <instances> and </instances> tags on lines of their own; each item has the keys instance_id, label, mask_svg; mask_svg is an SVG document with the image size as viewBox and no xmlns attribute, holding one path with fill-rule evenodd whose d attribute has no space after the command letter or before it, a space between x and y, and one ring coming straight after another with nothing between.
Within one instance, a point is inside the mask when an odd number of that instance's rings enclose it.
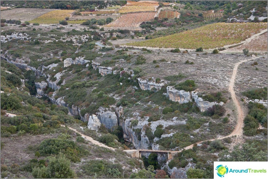
<instances>
[{"instance_id":1,"label":"pale overhanging rock face just left of the rightmost cliff block","mask_svg":"<svg viewBox=\"0 0 268 179\"><path fill-rule=\"evenodd\" d=\"M192 96L190 92L184 90L177 90L174 89L172 86L167 87L167 95L170 100L178 102L180 104L192 101Z\"/></svg>"}]
</instances>

